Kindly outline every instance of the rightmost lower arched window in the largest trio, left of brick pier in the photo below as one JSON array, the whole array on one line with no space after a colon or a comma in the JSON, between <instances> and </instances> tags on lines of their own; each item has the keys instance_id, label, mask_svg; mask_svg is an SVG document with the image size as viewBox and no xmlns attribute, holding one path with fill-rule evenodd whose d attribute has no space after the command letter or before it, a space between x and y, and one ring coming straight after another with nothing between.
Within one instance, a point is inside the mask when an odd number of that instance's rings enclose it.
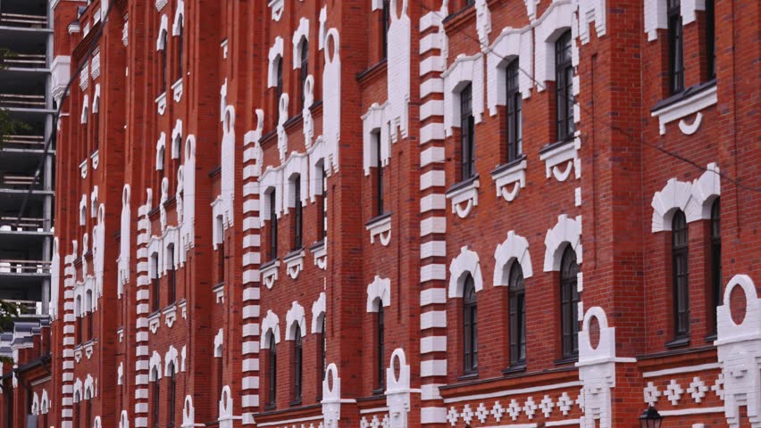
<instances>
[{"instance_id":1,"label":"rightmost lower arched window in the largest trio, left of brick pier","mask_svg":"<svg viewBox=\"0 0 761 428\"><path fill-rule=\"evenodd\" d=\"M560 262L560 327L563 337L563 358L579 356L579 288L576 251L570 245Z\"/></svg>"}]
</instances>

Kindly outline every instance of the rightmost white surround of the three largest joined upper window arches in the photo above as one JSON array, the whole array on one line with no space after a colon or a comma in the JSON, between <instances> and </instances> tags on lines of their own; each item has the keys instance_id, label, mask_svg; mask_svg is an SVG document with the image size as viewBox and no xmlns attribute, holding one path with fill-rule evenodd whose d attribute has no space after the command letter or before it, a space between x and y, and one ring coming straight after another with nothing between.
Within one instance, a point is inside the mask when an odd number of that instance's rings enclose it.
<instances>
[{"instance_id":1,"label":"rightmost white surround of the three largest joined upper window arches","mask_svg":"<svg viewBox=\"0 0 761 428\"><path fill-rule=\"evenodd\" d=\"M571 0L559 0L549 5L539 20L536 21L536 80L539 92L545 90L545 82L555 81L555 42L565 31L573 27L574 6ZM572 42L573 65L578 63L579 52Z\"/></svg>"}]
</instances>

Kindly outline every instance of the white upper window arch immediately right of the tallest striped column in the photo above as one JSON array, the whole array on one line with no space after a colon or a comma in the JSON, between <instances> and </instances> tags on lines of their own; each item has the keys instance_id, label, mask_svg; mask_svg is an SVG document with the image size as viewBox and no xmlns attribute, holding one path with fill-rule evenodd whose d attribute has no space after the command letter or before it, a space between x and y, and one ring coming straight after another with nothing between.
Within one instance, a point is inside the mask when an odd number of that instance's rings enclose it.
<instances>
[{"instance_id":1,"label":"white upper window arch immediately right of the tallest striped column","mask_svg":"<svg viewBox=\"0 0 761 428\"><path fill-rule=\"evenodd\" d=\"M444 78L444 130L452 135L452 128L460 128L460 91L472 85L472 114L475 123L483 118L483 54L461 54L441 74Z\"/></svg>"}]
</instances>

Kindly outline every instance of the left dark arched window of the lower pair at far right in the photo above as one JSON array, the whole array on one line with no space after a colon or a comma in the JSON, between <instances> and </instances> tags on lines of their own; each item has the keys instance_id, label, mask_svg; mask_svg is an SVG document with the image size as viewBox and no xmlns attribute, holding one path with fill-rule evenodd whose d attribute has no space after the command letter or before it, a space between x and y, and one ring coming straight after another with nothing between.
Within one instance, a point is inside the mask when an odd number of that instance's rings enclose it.
<instances>
[{"instance_id":1,"label":"left dark arched window of the lower pair at far right","mask_svg":"<svg viewBox=\"0 0 761 428\"><path fill-rule=\"evenodd\" d=\"M690 335L690 263L687 219L677 210L671 222L673 270L673 333L675 339Z\"/></svg>"}]
</instances>

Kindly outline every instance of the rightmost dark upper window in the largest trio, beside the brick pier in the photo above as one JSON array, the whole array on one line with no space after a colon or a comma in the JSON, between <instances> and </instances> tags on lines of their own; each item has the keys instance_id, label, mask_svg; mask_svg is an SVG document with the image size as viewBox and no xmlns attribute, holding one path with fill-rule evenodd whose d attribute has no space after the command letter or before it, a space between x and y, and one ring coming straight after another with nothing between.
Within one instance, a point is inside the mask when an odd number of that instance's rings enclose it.
<instances>
[{"instance_id":1,"label":"rightmost dark upper window in the largest trio, beside the brick pier","mask_svg":"<svg viewBox=\"0 0 761 428\"><path fill-rule=\"evenodd\" d=\"M571 30L555 42L555 83L557 104L557 140L573 137L573 64Z\"/></svg>"}]
</instances>

